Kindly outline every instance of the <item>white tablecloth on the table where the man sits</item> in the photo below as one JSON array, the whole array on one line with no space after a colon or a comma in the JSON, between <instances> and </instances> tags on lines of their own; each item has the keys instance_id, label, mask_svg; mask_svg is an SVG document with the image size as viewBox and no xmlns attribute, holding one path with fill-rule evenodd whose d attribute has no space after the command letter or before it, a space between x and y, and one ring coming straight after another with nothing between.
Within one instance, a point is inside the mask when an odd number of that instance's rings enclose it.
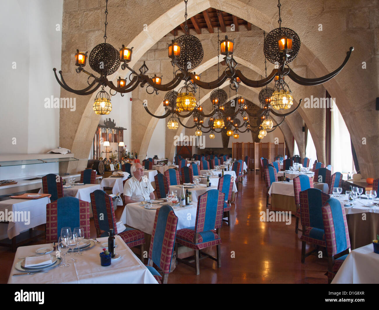
<instances>
[{"instance_id":1,"label":"white tablecloth on the table where the man sits","mask_svg":"<svg viewBox=\"0 0 379 310\"><path fill-rule=\"evenodd\" d=\"M178 217L177 229L195 226L197 202L193 202L192 206L172 207L175 215ZM120 220L128 226L139 229L146 234L151 235L156 210L145 209L140 203L130 203L125 206Z\"/></svg>"}]
</instances>

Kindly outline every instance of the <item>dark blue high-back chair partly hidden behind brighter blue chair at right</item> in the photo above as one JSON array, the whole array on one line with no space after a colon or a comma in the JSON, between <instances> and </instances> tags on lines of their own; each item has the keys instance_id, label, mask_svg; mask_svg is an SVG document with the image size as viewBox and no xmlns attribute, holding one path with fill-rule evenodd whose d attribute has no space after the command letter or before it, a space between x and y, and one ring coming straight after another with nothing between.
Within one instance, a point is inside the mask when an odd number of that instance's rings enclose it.
<instances>
[{"instance_id":1,"label":"dark blue high-back chair partly hidden behind brighter blue chair at right","mask_svg":"<svg viewBox=\"0 0 379 310\"><path fill-rule=\"evenodd\" d=\"M301 191L299 197L302 226L301 262L304 263L305 257L317 251L317 246L326 247L321 207L330 196L318 188L308 188ZM305 253L306 243L315 245L315 250Z\"/></svg>"}]
</instances>

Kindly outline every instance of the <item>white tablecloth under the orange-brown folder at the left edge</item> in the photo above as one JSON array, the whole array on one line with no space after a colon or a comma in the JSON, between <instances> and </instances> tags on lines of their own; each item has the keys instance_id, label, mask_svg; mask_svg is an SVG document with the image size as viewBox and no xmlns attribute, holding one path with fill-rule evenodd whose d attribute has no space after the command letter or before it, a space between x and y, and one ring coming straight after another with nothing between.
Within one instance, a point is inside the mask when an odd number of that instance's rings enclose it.
<instances>
[{"instance_id":1,"label":"white tablecloth under the orange-brown folder at the left edge","mask_svg":"<svg viewBox=\"0 0 379 310\"><path fill-rule=\"evenodd\" d=\"M12 221L8 225L0 224L0 239L16 237L21 232L46 223L46 204L50 203L50 198L40 199L8 199L0 201L0 212L18 211L29 212L30 223L25 225L25 221ZM5 211L7 210L7 211ZM25 214L25 213L23 213ZM22 219L22 218L19 218ZM25 218L24 218L25 220Z\"/></svg>"}]
</instances>

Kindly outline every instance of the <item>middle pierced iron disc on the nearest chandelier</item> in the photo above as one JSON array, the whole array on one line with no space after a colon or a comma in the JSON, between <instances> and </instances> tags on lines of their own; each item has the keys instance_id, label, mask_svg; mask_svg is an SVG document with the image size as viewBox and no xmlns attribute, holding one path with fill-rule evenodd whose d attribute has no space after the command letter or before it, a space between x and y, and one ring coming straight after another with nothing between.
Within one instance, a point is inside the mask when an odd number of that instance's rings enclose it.
<instances>
[{"instance_id":1,"label":"middle pierced iron disc on the nearest chandelier","mask_svg":"<svg viewBox=\"0 0 379 310\"><path fill-rule=\"evenodd\" d=\"M181 69L188 68L187 70L189 71L195 69L203 60L204 56L204 50L200 40L191 34L184 34L183 36L177 37L174 42L182 45L180 57L177 59L177 65ZM191 64L188 64L188 62L191 62ZM190 65L190 67L188 67L188 65Z\"/></svg>"}]
</instances>

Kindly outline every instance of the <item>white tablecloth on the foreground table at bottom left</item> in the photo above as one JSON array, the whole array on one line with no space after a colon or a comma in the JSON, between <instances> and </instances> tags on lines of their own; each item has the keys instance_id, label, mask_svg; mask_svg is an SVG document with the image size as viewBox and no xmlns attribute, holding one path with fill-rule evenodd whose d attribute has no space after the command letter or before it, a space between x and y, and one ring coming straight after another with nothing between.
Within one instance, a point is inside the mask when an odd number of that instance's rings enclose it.
<instances>
[{"instance_id":1,"label":"white tablecloth on the foreground table at bottom left","mask_svg":"<svg viewBox=\"0 0 379 310\"><path fill-rule=\"evenodd\" d=\"M11 284L55 284L55 283L89 283L89 284L157 284L150 271L144 266L141 260L128 248L119 236L116 237L116 254L121 254L121 258L113 260L110 266L103 267L100 265L100 252L102 252L101 243L108 240L98 238L93 248L83 251L84 256L75 257L76 263L70 263L68 268L59 268L56 266L46 273L36 273L27 276L12 276L14 273L22 273L14 265L20 260L18 257L36 254L36 249L44 245L20 246L17 248L13 268L9 275L8 283ZM66 257L70 259L72 255Z\"/></svg>"}]
</instances>

